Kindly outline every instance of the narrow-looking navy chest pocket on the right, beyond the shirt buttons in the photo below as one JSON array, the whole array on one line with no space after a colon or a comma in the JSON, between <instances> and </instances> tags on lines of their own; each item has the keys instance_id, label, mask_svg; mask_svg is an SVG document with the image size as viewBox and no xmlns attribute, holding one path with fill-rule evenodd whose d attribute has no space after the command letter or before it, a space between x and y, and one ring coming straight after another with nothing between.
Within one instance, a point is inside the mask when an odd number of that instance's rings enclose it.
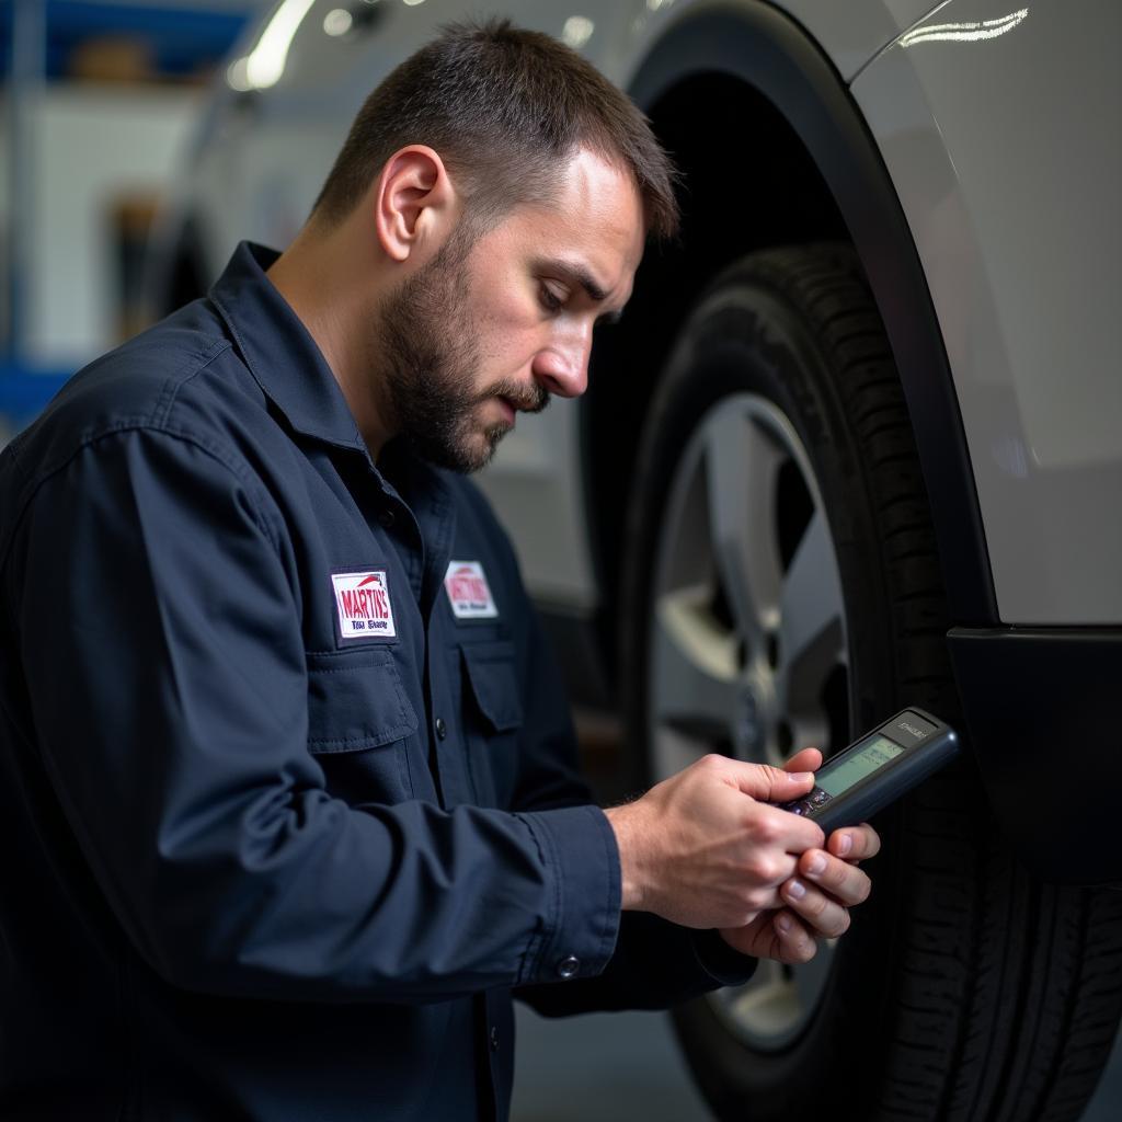
<instances>
[{"instance_id":1,"label":"narrow-looking navy chest pocket on the right, beyond the shirt buttons","mask_svg":"<svg viewBox=\"0 0 1122 1122\"><path fill-rule=\"evenodd\" d=\"M460 659L468 767L476 793L485 806L506 807L518 778L523 718L514 644L465 643Z\"/></svg>"}]
</instances>

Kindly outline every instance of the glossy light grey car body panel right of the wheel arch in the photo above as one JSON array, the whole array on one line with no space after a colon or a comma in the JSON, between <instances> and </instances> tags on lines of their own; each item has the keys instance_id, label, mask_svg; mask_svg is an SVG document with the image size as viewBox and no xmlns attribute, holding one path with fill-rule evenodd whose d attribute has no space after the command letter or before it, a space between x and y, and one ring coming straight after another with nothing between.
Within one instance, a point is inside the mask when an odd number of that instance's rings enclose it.
<instances>
[{"instance_id":1,"label":"glossy light grey car body panel right of the wheel arch","mask_svg":"<svg viewBox=\"0 0 1122 1122\"><path fill-rule=\"evenodd\" d=\"M1058 0L1010 7L955 0L853 93L923 260L1000 617L1118 624L1122 9L1088 0L1076 19ZM1078 114L1057 96L1073 58Z\"/></svg>"}]
</instances>

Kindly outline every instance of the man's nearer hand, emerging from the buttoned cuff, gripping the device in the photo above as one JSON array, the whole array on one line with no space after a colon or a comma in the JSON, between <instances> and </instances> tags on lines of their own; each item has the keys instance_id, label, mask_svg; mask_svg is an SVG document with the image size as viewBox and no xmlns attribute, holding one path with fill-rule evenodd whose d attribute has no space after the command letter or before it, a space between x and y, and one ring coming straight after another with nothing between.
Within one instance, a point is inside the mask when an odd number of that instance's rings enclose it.
<instances>
[{"instance_id":1,"label":"man's nearer hand, emerging from the buttoned cuff, gripping the device","mask_svg":"<svg viewBox=\"0 0 1122 1122\"><path fill-rule=\"evenodd\" d=\"M695 928L744 928L782 907L780 885L825 836L769 803L812 785L809 771L710 755L605 811L619 845L623 907Z\"/></svg>"}]
</instances>

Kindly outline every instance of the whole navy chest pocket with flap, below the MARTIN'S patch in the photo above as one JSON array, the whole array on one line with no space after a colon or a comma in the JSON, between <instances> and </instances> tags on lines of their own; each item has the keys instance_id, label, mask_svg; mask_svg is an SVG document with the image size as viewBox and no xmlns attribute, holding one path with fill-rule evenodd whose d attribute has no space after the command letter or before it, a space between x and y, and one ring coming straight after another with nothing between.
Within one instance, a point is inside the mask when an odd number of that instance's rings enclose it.
<instances>
[{"instance_id":1,"label":"whole navy chest pocket with flap, below the MARTIN'S patch","mask_svg":"<svg viewBox=\"0 0 1122 1122\"><path fill-rule=\"evenodd\" d=\"M350 803L412 798L406 742L416 729L390 651L307 655L307 747L331 794Z\"/></svg>"}]
</instances>

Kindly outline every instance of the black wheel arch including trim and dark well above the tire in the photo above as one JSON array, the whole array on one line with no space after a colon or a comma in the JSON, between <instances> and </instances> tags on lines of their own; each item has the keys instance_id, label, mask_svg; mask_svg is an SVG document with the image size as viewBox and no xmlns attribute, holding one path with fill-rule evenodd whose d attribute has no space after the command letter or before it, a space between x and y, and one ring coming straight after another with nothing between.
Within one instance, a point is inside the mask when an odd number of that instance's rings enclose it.
<instances>
[{"instance_id":1,"label":"black wheel arch including trim and dark well above the tire","mask_svg":"<svg viewBox=\"0 0 1122 1122\"><path fill-rule=\"evenodd\" d=\"M996 623L969 453L923 268L875 140L842 76L807 33L774 8L707 6L668 28L628 92L682 169L683 224L677 245L649 252L627 316L598 346L581 408L585 500L609 657L625 522L619 511L666 348L723 266L766 246L830 238L857 250L884 320L951 618ZM729 136L729 121L738 136Z\"/></svg>"}]
</instances>

